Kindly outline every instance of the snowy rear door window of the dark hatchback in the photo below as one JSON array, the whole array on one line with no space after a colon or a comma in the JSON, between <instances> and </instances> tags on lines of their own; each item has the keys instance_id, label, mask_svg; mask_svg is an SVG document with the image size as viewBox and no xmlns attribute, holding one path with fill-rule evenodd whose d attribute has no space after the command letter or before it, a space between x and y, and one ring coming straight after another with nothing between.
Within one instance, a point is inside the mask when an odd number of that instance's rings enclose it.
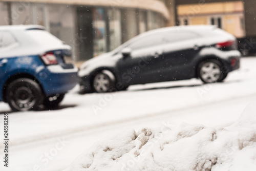
<instances>
[{"instance_id":1,"label":"snowy rear door window of the dark hatchback","mask_svg":"<svg viewBox=\"0 0 256 171\"><path fill-rule=\"evenodd\" d=\"M170 31L166 34L166 36L164 36L164 40L170 43L170 42L189 40L197 37L198 37L197 34L190 33L190 32Z\"/></svg>"}]
</instances>

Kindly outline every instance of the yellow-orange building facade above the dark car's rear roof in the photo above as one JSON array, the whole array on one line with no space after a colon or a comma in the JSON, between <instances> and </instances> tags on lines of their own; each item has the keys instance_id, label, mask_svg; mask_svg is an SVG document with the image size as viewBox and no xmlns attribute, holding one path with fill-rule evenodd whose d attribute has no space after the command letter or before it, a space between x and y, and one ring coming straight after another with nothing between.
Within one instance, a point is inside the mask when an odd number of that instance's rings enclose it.
<instances>
[{"instance_id":1,"label":"yellow-orange building facade above the dark car's rear roof","mask_svg":"<svg viewBox=\"0 0 256 171\"><path fill-rule=\"evenodd\" d=\"M180 25L216 25L238 38L245 37L242 1L178 5L177 14Z\"/></svg>"}]
</instances>

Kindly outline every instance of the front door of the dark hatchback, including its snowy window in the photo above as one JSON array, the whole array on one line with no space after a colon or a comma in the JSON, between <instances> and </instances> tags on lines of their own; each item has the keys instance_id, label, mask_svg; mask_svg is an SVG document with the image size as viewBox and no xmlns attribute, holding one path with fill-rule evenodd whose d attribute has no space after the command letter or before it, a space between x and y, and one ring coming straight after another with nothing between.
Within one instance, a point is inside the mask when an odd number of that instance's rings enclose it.
<instances>
[{"instance_id":1,"label":"front door of the dark hatchback, including its snowy window","mask_svg":"<svg viewBox=\"0 0 256 171\"><path fill-rule=\"evenodd\" d=\"M158 81L159 58L163 52L161 35L144 35L125 47L132 49L130 56L122 57L117 62L124 83L130 85Z\"/></svg>"}]
</instances>

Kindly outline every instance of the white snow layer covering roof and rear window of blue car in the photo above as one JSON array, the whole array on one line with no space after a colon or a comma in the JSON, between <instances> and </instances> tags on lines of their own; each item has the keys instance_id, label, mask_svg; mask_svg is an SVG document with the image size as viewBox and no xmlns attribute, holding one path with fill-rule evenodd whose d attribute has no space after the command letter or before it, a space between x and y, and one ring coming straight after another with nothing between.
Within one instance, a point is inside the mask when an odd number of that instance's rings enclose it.
<instances>
[{"instance_id":1,"label":"white snow layer covering roof and rear window of blue car","mask_svg":"<svg viewBox=\"0 0 256 171\"><path fill-rule=\"evenodd\" d=\"M0 31L10 32L16 40L15 46L0 49L0 58L39 55L56 49L71 49L61 40L38 25L0 26Z\"/></svg>"}]
</instances>

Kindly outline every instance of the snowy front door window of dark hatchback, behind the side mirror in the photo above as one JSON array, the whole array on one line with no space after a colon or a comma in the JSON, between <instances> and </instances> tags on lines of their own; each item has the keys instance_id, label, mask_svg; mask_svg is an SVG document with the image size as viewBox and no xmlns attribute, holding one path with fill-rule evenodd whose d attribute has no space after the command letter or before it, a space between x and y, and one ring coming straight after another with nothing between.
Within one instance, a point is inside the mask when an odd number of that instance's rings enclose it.
<instances>
[{"instance_id":1,"label":"snowy front door window of dark hatchback, behind the side mirror","mask_svg":"<svg viewBox=\"0 0 256 171\"><path fill-rule=\"evenodd\" d=\"M149 48L157 45L164 44L163 36L162 34L154 34L149 36L144 36L139 38L138 40L134 41L130 47L132 50L139 50L143 48Z\"/></svg>"}]
</instances>

